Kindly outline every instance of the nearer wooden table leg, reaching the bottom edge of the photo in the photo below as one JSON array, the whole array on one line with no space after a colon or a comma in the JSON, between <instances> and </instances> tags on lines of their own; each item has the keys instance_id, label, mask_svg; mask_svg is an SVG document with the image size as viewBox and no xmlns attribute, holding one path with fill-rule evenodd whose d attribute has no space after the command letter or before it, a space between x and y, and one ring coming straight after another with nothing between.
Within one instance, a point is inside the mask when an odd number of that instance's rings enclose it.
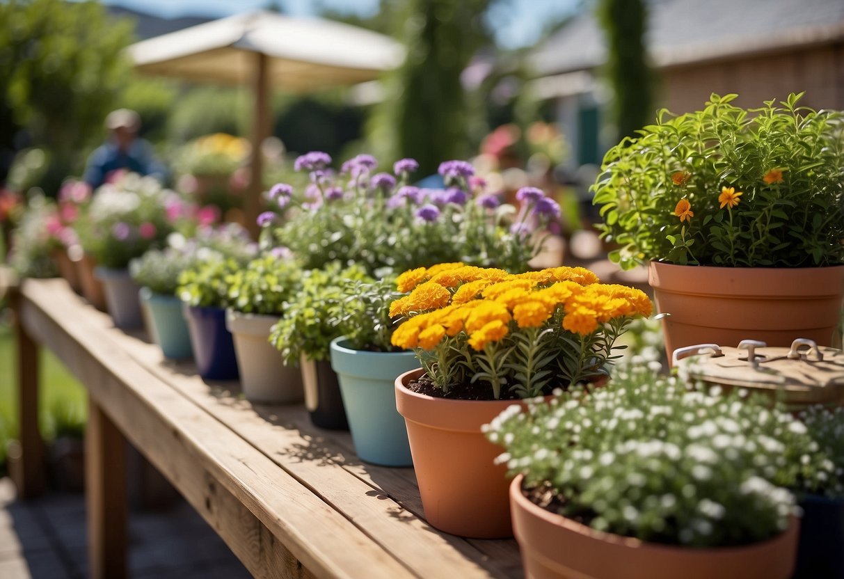
<instances>
[{"instance_id":1,"label":"nearer wooden table leg, reaching the bottom edge of the photo","mask_svg":"<svg viewBox=\"0 0 844 579\"><path fill-rule=\"evenodd\" d=\"M126 441L88 398L85 425L85 507L88 564L93 579L127 575Z\"/></svg>"}]
</instances>

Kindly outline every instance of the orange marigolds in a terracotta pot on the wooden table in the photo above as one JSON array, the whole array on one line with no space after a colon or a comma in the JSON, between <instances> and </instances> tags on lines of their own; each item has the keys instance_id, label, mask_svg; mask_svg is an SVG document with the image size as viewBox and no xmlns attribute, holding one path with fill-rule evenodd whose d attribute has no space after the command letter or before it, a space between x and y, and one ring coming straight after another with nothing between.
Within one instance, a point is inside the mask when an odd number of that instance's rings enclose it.
<instances>
[{"instance_id":1,"label":"orange marigolds in a terracotta pot on the wooden table","mask_svg":"<svg viewBox=\"0 0 844 579\"><path fill-rule=\"evenodd\" d=\"M422 364L398 377L396 404L425 518L457 535L510 536L504 468L481 425L513 400L605 377L615 338L651 302L583 268L510 274L446 263L397 285L410 293L392 303L390 314L406 318L392 344Z\"/></svg>"}]
</instances>

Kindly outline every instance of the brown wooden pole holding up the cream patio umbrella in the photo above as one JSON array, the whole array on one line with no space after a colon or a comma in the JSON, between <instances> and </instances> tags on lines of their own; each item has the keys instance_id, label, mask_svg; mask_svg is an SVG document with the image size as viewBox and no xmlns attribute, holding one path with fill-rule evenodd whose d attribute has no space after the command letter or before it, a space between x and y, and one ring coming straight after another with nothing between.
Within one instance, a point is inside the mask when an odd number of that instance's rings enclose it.
<instances>
[{"instance_id":1,"label":"brown wooden pole holding up the cream patio umbrella","mask_svg":"<svg viewBox=\"0 0 844 579\"><path fill-rule=\"evenodd\" d=\"M261 210L261 193L263 190L263 155L261 144L269 136L269 83L268 57L262 52L254 53L254 72L252 77L252 92L255 96L255 111L252 114L252 158L249 164L249 187L246 187L246 228L257 240L259 232L257 226L258 213Z\"/></svg>"}]
</instances>

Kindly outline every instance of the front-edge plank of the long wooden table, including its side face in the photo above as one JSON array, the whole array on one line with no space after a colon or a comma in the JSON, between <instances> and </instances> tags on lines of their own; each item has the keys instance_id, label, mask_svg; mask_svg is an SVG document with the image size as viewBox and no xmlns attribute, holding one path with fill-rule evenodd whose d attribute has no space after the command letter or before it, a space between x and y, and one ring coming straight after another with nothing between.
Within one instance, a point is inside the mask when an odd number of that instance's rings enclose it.
<instances>
[{"instance_id":1,"label":"front-edge plank of the long wooden table, including its side face","mask_svg":"<svg viewBox=\"0 0 844 579\"><path fill-rule=\"evenodd\" d=\"M64 285L28 280L23 321L256 576L413 573L262 452L129 357ZM246 506L250 517L242 508ZM260 525L260 526L259 526ZM266 529L262 529L265 527Z\"/></svg>"}]
</instances>

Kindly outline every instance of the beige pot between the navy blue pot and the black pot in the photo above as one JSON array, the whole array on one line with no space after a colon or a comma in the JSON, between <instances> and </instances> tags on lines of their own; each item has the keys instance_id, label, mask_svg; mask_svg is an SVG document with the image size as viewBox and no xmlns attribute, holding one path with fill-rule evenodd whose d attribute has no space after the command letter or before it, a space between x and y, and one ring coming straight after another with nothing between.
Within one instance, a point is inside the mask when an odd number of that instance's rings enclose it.
<instances>
[{"instance_id":1,"label":"beige pot between the navy blue pot and the black pot","mask_svg":"<svg viewBox=\"0 0 844 579\"><path fill-rule=\"evenodd\" d=\"M268 338L279 317L245 314L229 309L225 326L235 341L241 387L246 399L257 403L294 403L302 399L298 368L284 365Z\"/></svg>"}]
</instances>

